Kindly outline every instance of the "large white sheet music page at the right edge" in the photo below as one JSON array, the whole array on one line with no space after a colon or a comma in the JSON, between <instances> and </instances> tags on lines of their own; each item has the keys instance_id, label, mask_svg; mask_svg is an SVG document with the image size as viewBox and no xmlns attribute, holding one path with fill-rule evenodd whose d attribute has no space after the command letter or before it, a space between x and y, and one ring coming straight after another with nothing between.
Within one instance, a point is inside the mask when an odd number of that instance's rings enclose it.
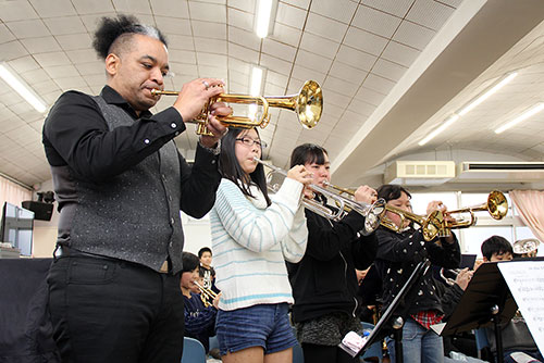
<instances>
[{"instance_id":1,"label":"large white sheet music page at the right edge","mask_svg":"<svg viewBox=\"0 0 544 363\"><path fill-rule=\"evenodd\" d=\"M544 261L498 263L541 352L544 352Z\"/></svg>"}]
</instances>

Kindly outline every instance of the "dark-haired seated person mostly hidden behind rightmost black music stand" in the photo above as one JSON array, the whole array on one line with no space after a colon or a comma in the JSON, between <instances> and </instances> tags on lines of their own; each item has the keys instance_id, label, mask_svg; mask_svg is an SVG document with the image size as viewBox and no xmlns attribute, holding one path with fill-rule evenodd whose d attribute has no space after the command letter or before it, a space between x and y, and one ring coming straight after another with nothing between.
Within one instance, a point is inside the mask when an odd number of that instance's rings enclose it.
<instances>
[{"instance_id":1,"label":"dark-haired seated person mostly hidden behind rightmost black music stand","mask_svg":"<svg viewBox=\"0 0 544 363\"><path fill-rule=\"evenodd\" d=\"M483 241L482 255L484 262L510 261L514 258L514 250L506 238L492 236ZM486 328L486 334L491 351L496 355L495 333L493 328ZM503 327L502 337L505 363L516 362L511 358L511 354L516 352L526 353L540 362L544 362L527 327L526 321L519 312Z\"/></svg>"}]
</instances>

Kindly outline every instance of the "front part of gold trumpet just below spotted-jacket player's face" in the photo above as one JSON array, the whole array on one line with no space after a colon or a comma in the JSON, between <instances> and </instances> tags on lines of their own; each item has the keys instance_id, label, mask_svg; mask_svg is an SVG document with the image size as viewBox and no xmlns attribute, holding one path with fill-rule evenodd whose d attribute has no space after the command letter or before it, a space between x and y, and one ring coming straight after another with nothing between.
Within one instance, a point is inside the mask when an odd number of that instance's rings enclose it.
<instances>
[{"instance_id":1,"label":"front part of gold trumpet just below spotted-jacket player's face","mask_svg":"<svg viewBox=\"0 0 544 363\"><path fill-rule=\"evenodd\" d=\"M406 220L409 220L421 226L421 231L425 241L433 240L444 225L444 214L441 211L433 211L429 215L423 216L390 204L385 204L385 210L400 216L400 223L396 225L392 220L384 216L381 223L382 226L398 234L403 231Z\"/></svg>"}]
</instances>

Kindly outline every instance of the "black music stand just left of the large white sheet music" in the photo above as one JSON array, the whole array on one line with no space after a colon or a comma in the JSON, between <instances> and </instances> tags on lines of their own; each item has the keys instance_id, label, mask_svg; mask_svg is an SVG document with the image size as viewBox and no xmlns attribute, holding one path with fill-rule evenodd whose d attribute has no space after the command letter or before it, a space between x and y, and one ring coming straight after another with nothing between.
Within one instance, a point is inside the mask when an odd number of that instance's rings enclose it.
<instances>
[{"instance_id":1,"label":"black music stand just left of the large white sheet music","mask_svg":"<svg viewBox=\"0 0 544 363\"><path fill-rule=\"evenodd\" d=\"M508 323L517 310L518 305L497 263L484 263L474 272L447 323L437 324L432 328L445 336L493 324L497 345L497 363L503 363L503 338L499 324Z\"/></svg>"}]
</instances>

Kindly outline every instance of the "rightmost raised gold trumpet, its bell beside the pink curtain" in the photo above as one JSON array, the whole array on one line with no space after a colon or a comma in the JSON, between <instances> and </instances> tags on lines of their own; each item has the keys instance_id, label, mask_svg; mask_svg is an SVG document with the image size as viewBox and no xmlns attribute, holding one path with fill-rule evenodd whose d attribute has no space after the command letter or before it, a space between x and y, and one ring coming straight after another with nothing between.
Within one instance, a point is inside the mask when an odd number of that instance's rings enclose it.
<instances>
[{"instance_id":1,"label":"rightmost raised gold trumpet, its bell beside the pink curtain","mask_svg":"<svg viewBox=\"0 0 544 363\"><path fill-rule=\"evenodd\" d=\"M485 203L447 211L448 214L469 213L470 218L455 222L444 222L444 225L441 227L440 235L449 236L449 229L468 228L473 226L477 223L474 212L481 211L487 211L487 213L490 213L490 215L496 221L504 218L508 213L508 201L506 200L505 195L498 190L493 190L487 196L487 201Z\"/></svg>"}]
</instances>

